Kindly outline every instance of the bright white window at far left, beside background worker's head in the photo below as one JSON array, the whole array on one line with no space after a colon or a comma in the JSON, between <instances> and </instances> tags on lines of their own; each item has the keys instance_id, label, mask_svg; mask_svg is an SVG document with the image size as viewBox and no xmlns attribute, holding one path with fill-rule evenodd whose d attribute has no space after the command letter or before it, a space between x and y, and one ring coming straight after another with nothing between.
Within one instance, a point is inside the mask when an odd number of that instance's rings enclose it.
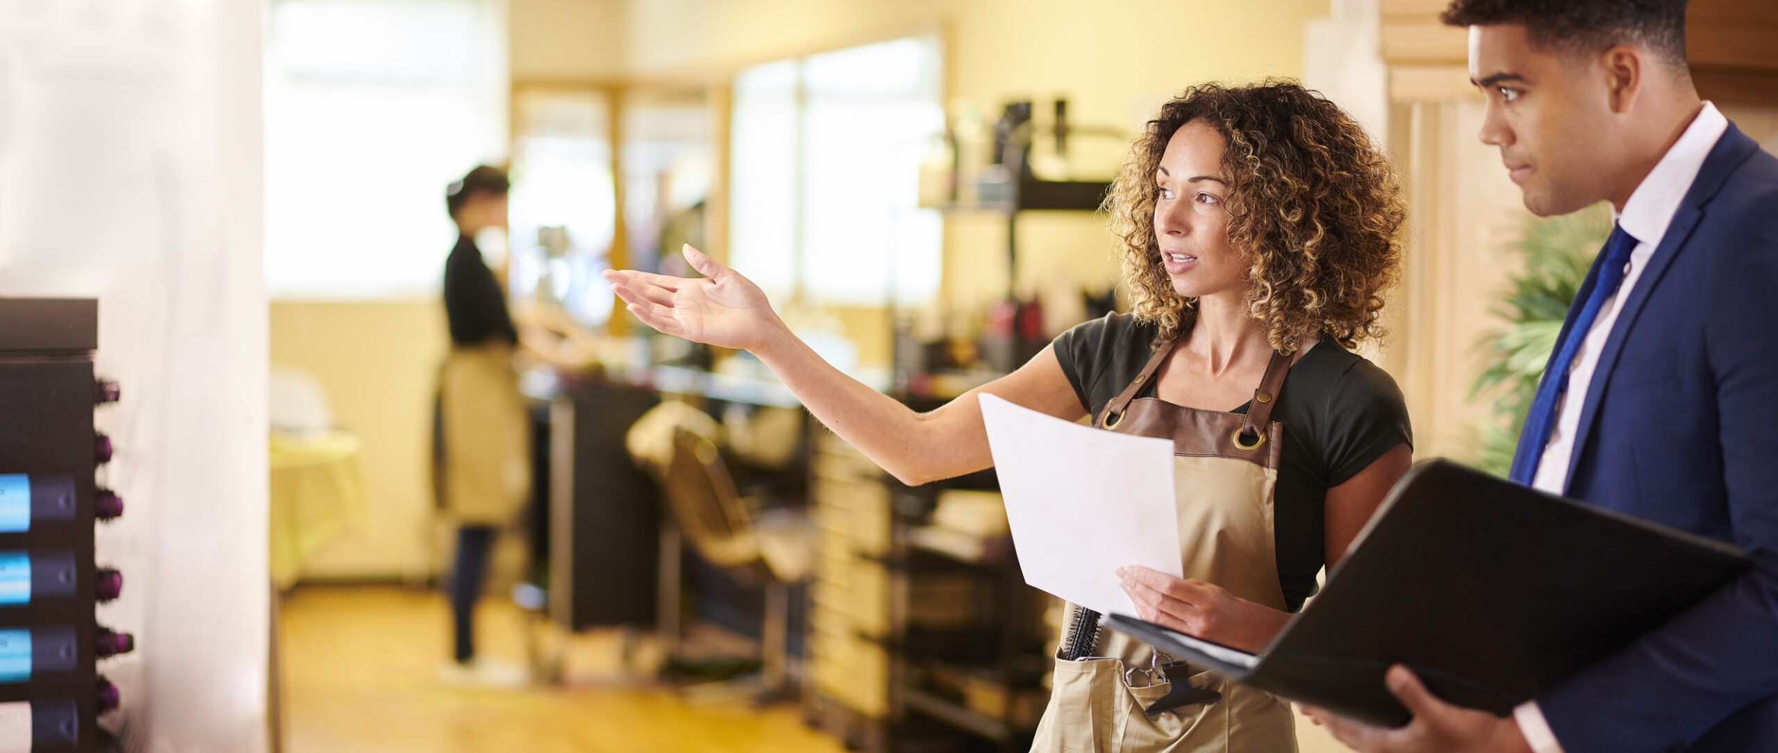
<instances>
[{"instance_id":1,"label":"bright white window at far left, beside background worker's head","mask_svg":"<svg viewBox=\"0 0 1778 753\"><path fill-rule=\"evenodd\" d=\"M507 144L501 0L272 0L265 278L274 297L436 296L444 187Z\"/></svg>"}]
</instances>

